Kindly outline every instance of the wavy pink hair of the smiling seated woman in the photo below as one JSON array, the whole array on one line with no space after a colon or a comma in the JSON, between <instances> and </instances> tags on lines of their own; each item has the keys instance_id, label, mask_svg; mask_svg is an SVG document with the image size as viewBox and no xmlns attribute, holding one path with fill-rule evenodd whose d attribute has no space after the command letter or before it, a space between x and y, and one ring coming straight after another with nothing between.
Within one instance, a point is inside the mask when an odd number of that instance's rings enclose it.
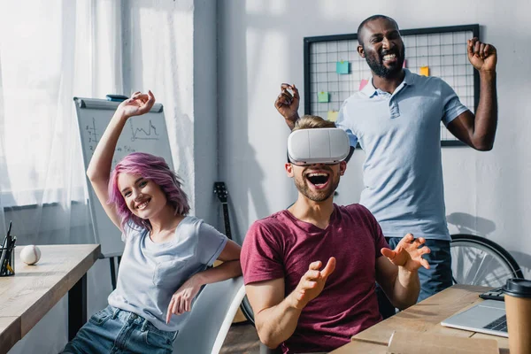
<instances>
[{"instance_id":1,"label":"wavy pink hair of the smiling seated woman","mask_svg":"<svg viewBox=\"0 0 531 354\"><path fill-rule=\"evenodd\" d=\"M122 158L114 167L109 181L107 204L114 204L116 207L122 228L129 222L148 229L151 229L151 224L149 219L137 217L127 207L126 201L119 191L119 173L137 174L146 180L155 182L164 192L167 203L175 208L175 215L187 215L189 213L188 196L181 189L181 178L170 169L165 159L143 152L133 152Z\"/></svg>"}]
</instances>

